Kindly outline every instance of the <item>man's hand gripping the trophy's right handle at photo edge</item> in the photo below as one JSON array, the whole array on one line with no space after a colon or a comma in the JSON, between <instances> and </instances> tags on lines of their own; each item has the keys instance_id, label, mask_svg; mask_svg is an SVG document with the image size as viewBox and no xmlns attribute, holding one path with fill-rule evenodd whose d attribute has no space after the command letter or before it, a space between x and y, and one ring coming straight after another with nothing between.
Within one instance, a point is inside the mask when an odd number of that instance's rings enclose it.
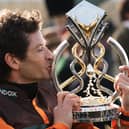
<instances>
[{"instance_id":1,"label":"man's hand gripping the trophy's right handle at photo edge","mask_svg":"<svg viewBox=\"0 0 129 129\"><path fill-rule=\"evenodd\" d=\"M120 66L121 73L115 78L114 88L120 91L122 108L129 111L129 66Z\"/></svg>"}]
</instances>

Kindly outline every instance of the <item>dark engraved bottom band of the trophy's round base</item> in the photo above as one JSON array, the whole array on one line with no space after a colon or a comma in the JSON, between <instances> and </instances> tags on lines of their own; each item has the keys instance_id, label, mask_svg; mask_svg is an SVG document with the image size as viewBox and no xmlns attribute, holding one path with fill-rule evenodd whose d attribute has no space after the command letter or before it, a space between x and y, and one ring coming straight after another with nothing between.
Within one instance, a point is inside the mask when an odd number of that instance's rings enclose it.
<instances>
[{"instance_id":1,"label":"dark engraved bottom band of the trophy's round base","mask_svg":"<svg viewBox=\"0 0 129 129\"><path fill-rule=\"evenodd\" d=\"M119 114L119 106L115 104L82 106L81 111L73 112L73 119L77 122L104 122L117 119Z\"/></svg>"}]
</instances>

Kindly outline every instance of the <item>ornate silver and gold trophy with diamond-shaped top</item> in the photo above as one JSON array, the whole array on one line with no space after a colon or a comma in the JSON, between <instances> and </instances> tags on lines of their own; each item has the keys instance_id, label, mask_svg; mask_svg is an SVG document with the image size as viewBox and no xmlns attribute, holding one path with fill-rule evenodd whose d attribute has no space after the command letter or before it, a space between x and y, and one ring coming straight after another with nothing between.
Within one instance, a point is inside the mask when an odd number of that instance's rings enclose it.
<instances>
[{"instance_id":1,"label":"ornate silver and gold trophy with diamond-shaped top","mask_svg":"<svg viewBox=\"0 0 129 129\"><path fill-rule=\"evenodd\" d=\"M88 12L88 13L87 13ZM63 51L70 46L65 40L54 51L53 81L58 91L64 90L74 82L78 85L70 90L81 96L81 111L73 112L73 118L79 122L102 122L116 119L119 116L117 105L114 101L119 93L108 89L105 84L113 87L114 77L107 74L108 62L104 59L105 47L100 42L107 23L104 22L106 12L87 1L80 2L71 9L67 16L67 29L76 43L72 47L73 61L70 69L73 74L63 83L59 83L56 75L56 64ZM109 37L107 43L121 58L123 64L128 65L128 58L120 44ZM80 65L77 71L75 65ZM84 78L87 80L84 81Z\"/></svg>"}]
</instances>

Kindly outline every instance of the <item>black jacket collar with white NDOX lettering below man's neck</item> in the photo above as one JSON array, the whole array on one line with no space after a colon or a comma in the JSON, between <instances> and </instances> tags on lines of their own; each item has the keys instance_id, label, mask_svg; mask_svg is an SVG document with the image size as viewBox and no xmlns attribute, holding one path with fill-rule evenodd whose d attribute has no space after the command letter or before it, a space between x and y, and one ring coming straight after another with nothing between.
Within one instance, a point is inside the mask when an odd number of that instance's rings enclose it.
<instances>
[{"instance_id":1,"label":"black jacket collar with white NDOX lettering below man's neck","mask_svg":"<svg viewBox=\"0 0 129 129\"><path fill-rule=\"evenodd\" d=\"M0 84L1 95L25 101L31 101L36 96L37 90L37 83L18 84L4 81Z\"/></svg>"}]
</instances>

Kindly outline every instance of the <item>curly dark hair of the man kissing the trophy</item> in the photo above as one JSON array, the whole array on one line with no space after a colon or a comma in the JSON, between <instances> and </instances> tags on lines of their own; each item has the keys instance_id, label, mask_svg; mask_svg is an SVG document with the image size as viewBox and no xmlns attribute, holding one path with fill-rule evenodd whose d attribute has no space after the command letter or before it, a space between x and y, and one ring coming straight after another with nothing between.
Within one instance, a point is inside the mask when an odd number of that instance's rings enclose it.
<instances>
[{"instance_id":1,"label":"curly dark hair of the man kissing the trophy","mask_svg":"<svg viewBox=\"0 0 129 129\"><path fill-rule=\"evenodd\" d=\"M40 20L36 10L0 11L0 78L6 78L11 71L4 60L6 53L25 59L29 46L27 35L39 29Z\"/></svg>"}]
</instances>

